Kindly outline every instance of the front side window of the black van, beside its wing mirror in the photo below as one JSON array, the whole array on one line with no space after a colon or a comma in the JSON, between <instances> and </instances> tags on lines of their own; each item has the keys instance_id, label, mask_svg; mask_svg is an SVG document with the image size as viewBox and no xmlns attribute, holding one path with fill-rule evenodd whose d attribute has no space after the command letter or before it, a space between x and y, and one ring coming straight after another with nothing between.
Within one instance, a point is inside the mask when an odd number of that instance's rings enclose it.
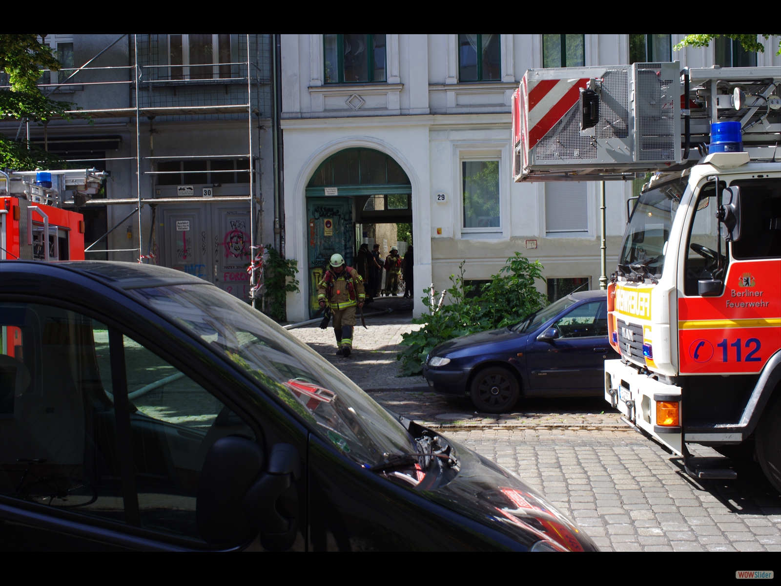
<instances>
[{"instance_id":1,"label":"front side window of the black van, beside its wing mirror","mask_svg":"<svg viewBox=\"0 0 781 586\"><path fill-rule=\"evenodd\" d=\"M255 434L214 395L123 336L130 441L141 527L201 539L196 496L206 454L226 435Z\"/></svg>"}]
</instances>

